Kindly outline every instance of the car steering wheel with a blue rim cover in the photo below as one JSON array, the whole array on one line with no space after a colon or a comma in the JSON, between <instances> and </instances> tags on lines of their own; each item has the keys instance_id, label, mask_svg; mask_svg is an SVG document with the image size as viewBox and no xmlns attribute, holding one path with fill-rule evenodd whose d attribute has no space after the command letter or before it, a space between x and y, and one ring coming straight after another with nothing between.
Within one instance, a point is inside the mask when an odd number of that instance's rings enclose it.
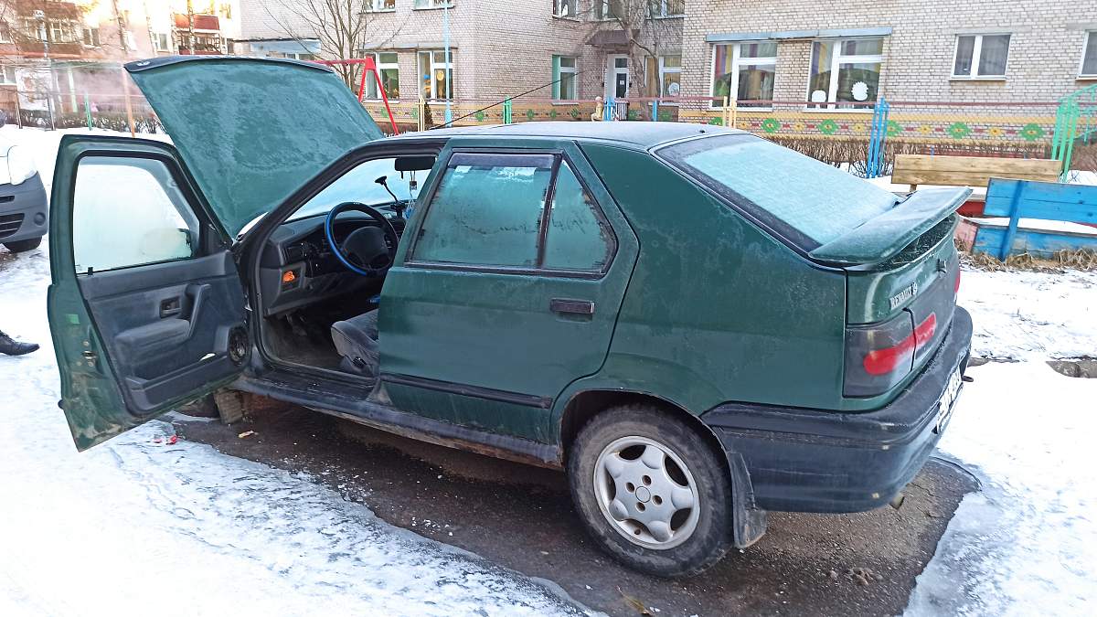
<instances>
[{"instance_id":1,"label":"car steering wheel with a blue rim cover","mask_svg":"<svg viewBox=\"0 0 1097 617\"><path fill-rule=\"evenodd\" d=\"M336 217L343 212L366 214L376 221L378 226L354 229L340 246L336 243L335 223ZM396 245L400 242L396 229L384 214L357 201L340 203L328 212L328 217L324 221L324 235L328 238L331 251L348 270L371 279L383 277L393 267L396 260Z\"/></svg>"}]
</instances>

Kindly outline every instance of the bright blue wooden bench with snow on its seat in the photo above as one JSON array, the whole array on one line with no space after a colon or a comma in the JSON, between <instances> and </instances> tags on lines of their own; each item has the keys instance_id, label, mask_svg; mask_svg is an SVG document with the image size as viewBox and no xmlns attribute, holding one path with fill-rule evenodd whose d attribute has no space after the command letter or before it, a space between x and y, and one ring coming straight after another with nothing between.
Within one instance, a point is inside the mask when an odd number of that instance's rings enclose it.
<instances>
[{"instance_id":1,"label":"bright blue wooden bench with snow on its seat","mask_svg":"<svg viewBox=\"0 0 1097 617\"><path fill-rule=\"evenodd\" d=\"M1051 257L1060 250L1097 250L1097 226L1092 232L1021 226L1021 218L1097 225L1097 187L992 178L986 189L985 216L1008 216L1007 225L965 220L972 253L989 253L1005 260L1028 253ZM972 233L972 228L974 232Z\"/></svg>"}]
</instances>

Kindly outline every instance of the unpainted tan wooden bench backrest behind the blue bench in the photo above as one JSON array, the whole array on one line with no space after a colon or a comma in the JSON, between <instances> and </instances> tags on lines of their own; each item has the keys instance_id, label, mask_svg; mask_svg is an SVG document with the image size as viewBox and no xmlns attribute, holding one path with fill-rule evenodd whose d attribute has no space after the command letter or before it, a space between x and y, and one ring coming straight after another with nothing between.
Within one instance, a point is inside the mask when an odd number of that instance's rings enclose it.
<instances>
[{"instance_id":1,"label":"unpainted tan wooden bench backrest behind the blue bench","mask_svg":"<svg viewBox=\"0 0 1097 617\"><path fill-rule=\"evenodd\" d=\"M1056 182L1062 170L1058 160L1042 158L988 158L975 156L896 155L892 183L984 189L991 178Z\"/></svg>"}]
</instances>

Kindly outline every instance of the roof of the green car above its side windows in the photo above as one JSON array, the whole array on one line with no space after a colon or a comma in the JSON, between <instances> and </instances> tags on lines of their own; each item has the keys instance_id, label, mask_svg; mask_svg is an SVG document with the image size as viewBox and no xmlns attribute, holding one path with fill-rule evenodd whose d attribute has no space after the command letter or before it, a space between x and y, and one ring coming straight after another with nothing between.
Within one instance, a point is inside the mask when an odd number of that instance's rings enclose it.
<instances>
[{"instance_id":1,"label":"roof of the green car above its side windows","mask_svg":"<svg viewBox=\"0 0 1097 617\"><path fill-rule=\"evenodd\" d=\"M724 128L708 124L685 122L522 122L488 126L461 126L436 128L419 133L404 133L389 139L438 137L541 137L617 142L638 149L678 142L701 134L747 134L746 131Z\"/></svg>"}]
</instances>

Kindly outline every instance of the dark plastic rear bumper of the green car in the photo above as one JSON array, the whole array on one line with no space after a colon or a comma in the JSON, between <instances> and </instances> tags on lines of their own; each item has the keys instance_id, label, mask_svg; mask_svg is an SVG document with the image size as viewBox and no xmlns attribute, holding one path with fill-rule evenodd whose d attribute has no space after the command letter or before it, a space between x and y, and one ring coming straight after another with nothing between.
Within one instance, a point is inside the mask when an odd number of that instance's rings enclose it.
<instances>
[{"instance_id":1,"label":"dark plastic rear bumper of the green car","mask_svg":"<svg viewBox=\"0 0 1097 617\"><path fill-rule=\"evenodd\" d=\"M938 401L968 367L971 316L957 307L936 356L891 404L852 414L728 403L701 418L742 457L754 507L864 512L890 502L937 446Z\"/></svg>"}]
</instances>

